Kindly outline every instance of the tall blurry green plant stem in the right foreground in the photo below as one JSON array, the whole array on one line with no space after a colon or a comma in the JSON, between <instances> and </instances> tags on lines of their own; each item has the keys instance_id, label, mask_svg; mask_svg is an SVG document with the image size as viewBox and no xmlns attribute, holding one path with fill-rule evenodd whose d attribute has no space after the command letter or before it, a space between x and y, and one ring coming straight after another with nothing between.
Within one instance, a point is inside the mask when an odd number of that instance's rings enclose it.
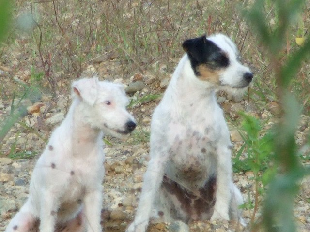
<instances>
[{"instance_id":1,"label":"tall blurry green plant stem in the right foreground","mask_svg":"<svg viewBox=\"0 0 310 232\"><path fill-rule=\"evenodd\" d=\"M269 1L268 1L269 2ZM287 33L303 6L303 0L273 0L274 14L277 19L272 27L266 23L266 1L255 1L245 12L245 18L257 34L265 48L277 85L276 95L283 112L280 123L272 136L275 165L279 172L269 183L263 204L263 225L265 231L295 232L293 216L294 197L298 190L298 180L309 170L301 166L294 134L301 112L298 101L289 91L289 84L295 77L302 62L310 53L310 37L302 47L296 48L287 59L283 57Z\"/></svg>"}]
</instances>

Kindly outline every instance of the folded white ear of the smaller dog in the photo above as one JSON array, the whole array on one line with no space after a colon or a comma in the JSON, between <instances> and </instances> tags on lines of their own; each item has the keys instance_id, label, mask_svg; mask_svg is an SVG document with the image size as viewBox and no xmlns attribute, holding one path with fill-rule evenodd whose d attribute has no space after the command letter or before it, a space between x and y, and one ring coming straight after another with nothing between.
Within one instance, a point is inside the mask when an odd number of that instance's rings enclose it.
<instances>
[{"instance_id":1,"label":"folded white ear of the smaller dog","mask_svg":"<svg viewBox=\"0 0 310 232\"><path fill-rule=\"evenodd\" d=\"M72 83L72 92L89 105L93 105L97 98L98 79L96 77L80 79Z\"/></svg>"}]
</instances>

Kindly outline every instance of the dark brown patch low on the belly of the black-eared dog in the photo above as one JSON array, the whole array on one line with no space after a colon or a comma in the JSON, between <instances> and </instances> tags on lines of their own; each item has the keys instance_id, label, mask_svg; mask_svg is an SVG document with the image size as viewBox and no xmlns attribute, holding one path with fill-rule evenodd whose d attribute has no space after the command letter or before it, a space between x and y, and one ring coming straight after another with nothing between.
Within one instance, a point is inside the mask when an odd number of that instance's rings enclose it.
<instances>
[{"instance_id":1,"label":"dark brown patch low on the belly of the black-eared dog","mask_svg":"<svg viewBox=\"0 0 310 232\"><path fill-rule=\"evenodd\" d=\"M183 188L167 176L163 177L162 187L178 199L182 209L187 213L188 219L195 216L202 217L202 214L211 216L213 213L216 191L215 177L211 177L202 188L198 189L199 194Z\"/></svg>"}]
</instances>

